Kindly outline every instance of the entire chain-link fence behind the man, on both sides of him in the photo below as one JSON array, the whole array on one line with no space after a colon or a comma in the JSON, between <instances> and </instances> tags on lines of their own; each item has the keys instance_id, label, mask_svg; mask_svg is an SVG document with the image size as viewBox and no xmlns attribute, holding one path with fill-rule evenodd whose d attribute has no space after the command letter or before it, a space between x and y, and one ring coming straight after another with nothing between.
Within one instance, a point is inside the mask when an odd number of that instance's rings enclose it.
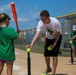
<instances>
[{"instance_id":1,"label":"entire chain-link fence behind the man, on both sides of him","mask_svg":"<svg viewBox=\"0 0 76 75\"><path fill-rule=\"evenodd\" d=\"M61 43L61 47L62 48L69 48L69 39L70 39L70 32L72 31L72 26L76 25L76 16L74 17L70 17L70 18L59 18L59 21L61 23L61 27L62 27L62 43ZM21 43L21 44L29 44L31 43L34 35L36 33L36 28L32 28L32 29L27 29L27 30L23 30L22 34L22 40L16 40L16 43ZM45 33L42 31L40 34L40 37L38 38L38 40L36 41L36 43L43 43L44 42L44 36Z\"/></svg>"}]
</instances>

